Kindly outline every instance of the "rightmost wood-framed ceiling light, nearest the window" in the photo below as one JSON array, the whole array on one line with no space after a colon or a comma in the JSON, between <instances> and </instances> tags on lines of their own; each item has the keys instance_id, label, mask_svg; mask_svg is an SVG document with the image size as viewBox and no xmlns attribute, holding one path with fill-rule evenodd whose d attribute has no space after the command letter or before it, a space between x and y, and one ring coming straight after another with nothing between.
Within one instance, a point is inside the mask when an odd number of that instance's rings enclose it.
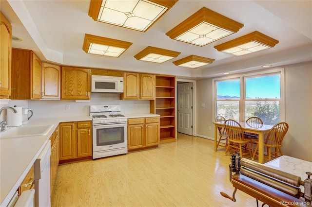
<instances>
[{"instance_id":1,"label":"rightmost wood-framed ceiling light, nearest the window","mask_svg":"<svg viewBox=\"0 0 312 207\"><path fill-rule=\"evenodd\" d=\"M244 35L220 45L216 45L215 49L220 52L239 56L273 48L277 43L278 40L255 31L248 35Z\"/></svg>"}]
</instances>

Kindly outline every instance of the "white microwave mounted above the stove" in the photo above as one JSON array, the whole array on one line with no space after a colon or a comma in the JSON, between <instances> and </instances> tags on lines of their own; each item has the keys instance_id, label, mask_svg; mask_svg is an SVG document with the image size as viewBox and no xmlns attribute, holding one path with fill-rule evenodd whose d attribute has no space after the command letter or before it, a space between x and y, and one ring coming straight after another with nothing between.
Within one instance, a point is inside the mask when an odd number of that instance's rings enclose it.
<instances>
[{"instance_id":1,"label":"white microwave mounted above the stove","mask_svg":"<svg viewBox=\"0 0 312 207\"><path fill-rule=\"evenodd\" d=\"M91 92L123 93L123 77L91 75Z\"/></svg>"}]
</instances>

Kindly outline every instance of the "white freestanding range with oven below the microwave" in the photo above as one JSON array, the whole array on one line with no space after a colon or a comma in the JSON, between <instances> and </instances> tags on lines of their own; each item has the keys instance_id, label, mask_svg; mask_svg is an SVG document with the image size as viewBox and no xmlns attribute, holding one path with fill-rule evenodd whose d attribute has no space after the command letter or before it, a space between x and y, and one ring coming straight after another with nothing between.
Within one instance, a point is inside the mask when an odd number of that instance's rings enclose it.
<instances>
[{"instance_id":1,"label":"white freestanding range with oven below the microwave","mask_svg":"<svg viewBox=\"0 0 312 207\"><path fill-rule=\"evenodd\" d=\"M92 158L128 153L127 121L120 105L90 105L92 118Z\"/></svg>"}]
</instances>

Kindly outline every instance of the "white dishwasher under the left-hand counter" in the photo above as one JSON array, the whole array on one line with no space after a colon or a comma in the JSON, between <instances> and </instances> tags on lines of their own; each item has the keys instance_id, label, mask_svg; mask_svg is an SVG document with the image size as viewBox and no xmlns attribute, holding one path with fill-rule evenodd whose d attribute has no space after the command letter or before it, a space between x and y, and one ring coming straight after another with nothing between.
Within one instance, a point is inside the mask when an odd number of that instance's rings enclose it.
<instances>
[{"instance_id":1,"label":"white dishwasher under the left-hand counter","mask_svg":"<svg viewBox=\"0 0 312 207\"><path fill-rule=\"evenodd\" d=\"M50 155L49 139L35 161L35 207L51 207Z\"/></svg>"}]
</instances>

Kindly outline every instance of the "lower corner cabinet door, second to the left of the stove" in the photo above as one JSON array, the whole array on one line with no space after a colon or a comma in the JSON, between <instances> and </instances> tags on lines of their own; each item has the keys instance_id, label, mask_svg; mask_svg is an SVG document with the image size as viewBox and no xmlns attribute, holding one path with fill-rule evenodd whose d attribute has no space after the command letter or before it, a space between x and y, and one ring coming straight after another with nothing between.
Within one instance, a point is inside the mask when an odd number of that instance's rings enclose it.
<instances>
[{"instance_id":1,"label":"lower corner cabinet door, second to the left of the stove","mask_svg":"<svg viewBox=\"0 0 312 207\"><path fill-rule=\"evenodd\" d=\"M75 122L64 122L59 124L60 146L59 160L67 160L76 158L76 137Z\"/></svg>"}]
</instances>

